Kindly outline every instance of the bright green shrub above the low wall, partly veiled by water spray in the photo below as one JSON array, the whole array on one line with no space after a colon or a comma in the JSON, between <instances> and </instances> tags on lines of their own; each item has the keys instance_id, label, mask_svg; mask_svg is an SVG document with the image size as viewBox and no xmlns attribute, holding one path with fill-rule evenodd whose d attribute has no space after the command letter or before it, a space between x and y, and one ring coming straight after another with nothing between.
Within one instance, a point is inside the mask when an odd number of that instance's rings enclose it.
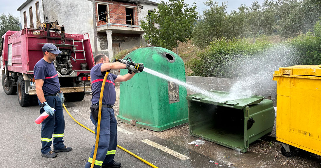
<instances>
[{"instance_id":1,"label":"bright green shrub above the low wall, partly veiled by water spray","mask_svg":"<svg viewBox=\"0 0 321 168\"><path fill-rule=\"evenodd\" d=\"M189 75L235 78L236 73L234 72L237 71L237 67L230 68L231 62L254 57L271 46L272 43L264 38L257 40L255 44L245 39L226 41L226 39L222 38L221 40L213 41L205 49L205 52L197 55L198 58L191 59L187 63L187 67L190 67L193 71Z\"/></svg>"}]
</instances>

